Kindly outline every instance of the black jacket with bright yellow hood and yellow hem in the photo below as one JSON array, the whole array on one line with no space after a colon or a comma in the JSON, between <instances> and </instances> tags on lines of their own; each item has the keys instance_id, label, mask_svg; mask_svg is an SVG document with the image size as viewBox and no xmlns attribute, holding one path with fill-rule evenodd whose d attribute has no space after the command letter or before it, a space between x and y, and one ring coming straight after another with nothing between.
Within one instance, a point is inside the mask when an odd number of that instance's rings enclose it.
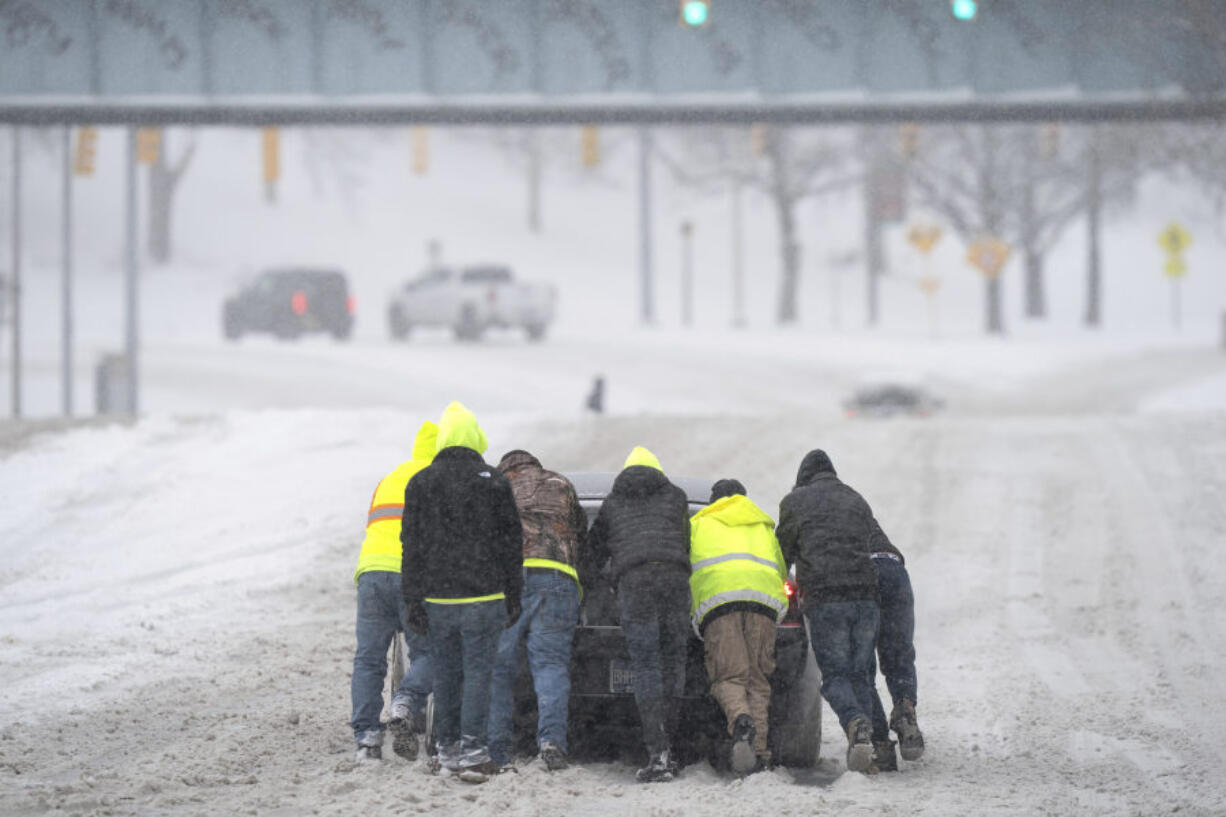
<instances>
[{"instance_id":1,"label":"black jacket with bright yellow hood and yellow hem","mask_svg":"<svg viewBox=\"0 0 1226 817\"><path fill-rule=\"evenodd\" d=\"M408 482L401 527L405 601L508 600L524 584L522 532L503 474L481 458L485 434L472 412L443 412L434 462Z\"/></svg>"}]
</instances>

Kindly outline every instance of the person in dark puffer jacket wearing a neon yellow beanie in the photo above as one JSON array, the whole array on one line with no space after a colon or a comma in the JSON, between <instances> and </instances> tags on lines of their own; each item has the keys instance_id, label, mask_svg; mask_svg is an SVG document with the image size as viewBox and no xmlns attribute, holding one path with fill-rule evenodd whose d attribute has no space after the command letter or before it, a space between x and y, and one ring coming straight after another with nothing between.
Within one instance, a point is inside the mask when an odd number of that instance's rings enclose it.
<instances>
[{"instance_id":1,"label":"person in dark puffer jacket wearing a neon yellow beanie","mask_svg":"<svg viewBox=\"0 0 1226 817\"><path fill-rule=\"evenodd\" d=\"M635 774L642 783L672 780L678 770L671 751L678 698L685 689L689 540L685 492L668 481L651 451L636 447L592 523L585 573L608 562L617 588L634 700L650 754Z\"/></svg>"}]
</instances>

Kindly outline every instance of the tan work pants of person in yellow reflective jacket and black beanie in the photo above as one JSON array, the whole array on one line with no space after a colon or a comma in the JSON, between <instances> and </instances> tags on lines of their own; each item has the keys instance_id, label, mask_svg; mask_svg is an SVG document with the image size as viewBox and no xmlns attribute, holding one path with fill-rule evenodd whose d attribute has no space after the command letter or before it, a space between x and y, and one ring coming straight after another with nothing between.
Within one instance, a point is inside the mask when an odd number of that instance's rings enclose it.
<instances>
[{"instance_id":1,"label":"tan work pants of person in yellow reflective jacket and black beanie","mask_svg":"<svg viewBox=\"0 0 1226 817\"><path fill-rule=\"evenodd\" d=\"M728 734L738 715L754 719L754 752L767 757L770 673L775 671L775 619L756 612L720 616L702 634L706 677L711 694L728 719Z\"/></svg>"}]
</instances>

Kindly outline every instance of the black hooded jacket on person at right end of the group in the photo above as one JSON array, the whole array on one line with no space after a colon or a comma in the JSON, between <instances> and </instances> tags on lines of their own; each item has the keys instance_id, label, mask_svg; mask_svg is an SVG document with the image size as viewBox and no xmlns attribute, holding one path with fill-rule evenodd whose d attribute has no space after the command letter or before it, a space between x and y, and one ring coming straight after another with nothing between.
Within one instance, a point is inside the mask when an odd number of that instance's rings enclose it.
<instances>
[{"instance_id":1,"label":"black hooded jacket on person at right end of the group","mask_svg":"<svg viewBox=\"0 0 1226 817\"><path fill-rule=\"evenodd\" d=\"M779 543L805 608L834 601L877 600L873 510L835 474L825 451L805 454L796 487L779 505Z\"/></svg>"}]
</instances>

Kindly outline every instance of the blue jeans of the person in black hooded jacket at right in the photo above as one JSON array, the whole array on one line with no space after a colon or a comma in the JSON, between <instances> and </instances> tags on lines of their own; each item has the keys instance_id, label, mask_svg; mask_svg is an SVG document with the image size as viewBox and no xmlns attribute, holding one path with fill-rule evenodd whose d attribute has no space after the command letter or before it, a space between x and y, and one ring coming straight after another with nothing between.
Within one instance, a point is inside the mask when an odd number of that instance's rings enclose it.
<instances>
[{"instance_id":1,"label":"blue jeans of the person in black hooded jacket at right","mask_svg":"<svg viewBox=\"0 0 1226 817\"><path fill-rule=\"evenodd\" d=\"M855 718L873 714L873 650L880 608L875 601L830 601L814 605L805 615L821 670L821 697L846 732Z\"/></svg>"}]
</instances>

